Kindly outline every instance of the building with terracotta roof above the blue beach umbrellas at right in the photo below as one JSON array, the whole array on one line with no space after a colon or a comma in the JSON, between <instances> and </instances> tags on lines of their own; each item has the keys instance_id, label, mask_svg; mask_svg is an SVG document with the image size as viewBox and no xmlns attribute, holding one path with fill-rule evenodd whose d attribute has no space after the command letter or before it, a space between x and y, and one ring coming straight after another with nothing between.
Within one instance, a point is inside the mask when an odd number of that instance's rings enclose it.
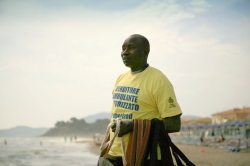
<instances>
[{"instance_id":1,"label":"building with terracotta roof above the blue beach umbrellas at right","mask_svg":"<svg viewBox=\"0 0 250 166\"><path fill-rule=\"evenodd\" d=\"M212 114L212 124L222 124L231 121L250 120L250 107L234 108Z\"/></svg>"}]
</instances>

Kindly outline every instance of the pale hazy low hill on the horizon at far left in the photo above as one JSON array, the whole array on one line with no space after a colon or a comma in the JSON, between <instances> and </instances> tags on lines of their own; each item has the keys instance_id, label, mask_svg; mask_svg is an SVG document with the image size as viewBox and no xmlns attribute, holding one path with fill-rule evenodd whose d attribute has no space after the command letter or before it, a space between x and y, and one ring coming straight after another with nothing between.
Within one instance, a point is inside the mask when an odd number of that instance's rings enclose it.
<instances>
[{"instance_id":1,"label":"pale hazy low hill on the horizon at far left","mask_svg":"<svg viewBox=\"0 0 250 166\"><path fill-rule=\"evenodd\" d=\"M0 136L4 137L33 137L43 135L49 128L31 128L27 126L17 126L10 129L0 130Z\"/></svg>"}]
</instances>

